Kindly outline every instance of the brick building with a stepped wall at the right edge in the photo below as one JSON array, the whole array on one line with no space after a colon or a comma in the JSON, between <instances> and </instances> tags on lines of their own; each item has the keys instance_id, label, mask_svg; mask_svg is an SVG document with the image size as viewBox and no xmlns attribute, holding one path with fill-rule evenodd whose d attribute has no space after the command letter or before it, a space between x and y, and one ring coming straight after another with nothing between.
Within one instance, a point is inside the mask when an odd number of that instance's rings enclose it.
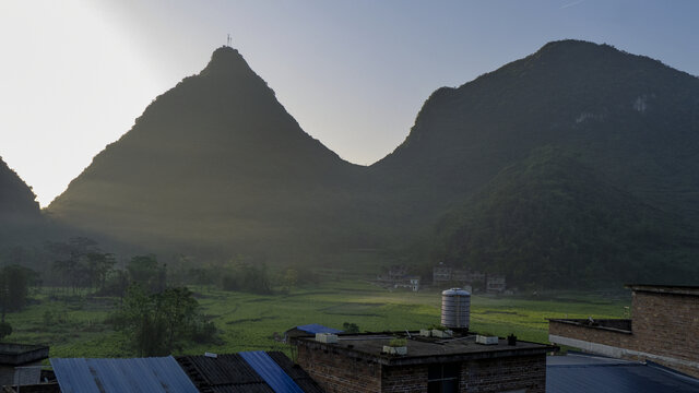
<instances>
[{"instance_id":1,"label":"brick building with a stepped wall at the right edge","mask_svg":"<svg viewBox=\"0 0 699 393\"><path fill-rule=\"evenodd\" d=\"M699 287L627 285L632 319L552 319L548 340L699 377Z\"/></svg>"}]
</instances>

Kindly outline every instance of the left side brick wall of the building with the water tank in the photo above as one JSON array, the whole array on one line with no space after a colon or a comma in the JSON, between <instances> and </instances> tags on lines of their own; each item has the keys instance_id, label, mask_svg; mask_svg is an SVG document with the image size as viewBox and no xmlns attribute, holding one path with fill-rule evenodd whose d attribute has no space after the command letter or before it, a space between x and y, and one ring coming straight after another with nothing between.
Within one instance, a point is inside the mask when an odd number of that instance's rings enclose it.
<instances>
[{"instance_id":1,"label":"left side brick wall of the building with the water tank","mask_svg":"<svg viewBox=\"0 0 699 393\"><path fill-rule=\"evenodd\" d=\"M328 393L380 392L381 365L298 345L296 361Z\"/></svg>"}]
</instances>

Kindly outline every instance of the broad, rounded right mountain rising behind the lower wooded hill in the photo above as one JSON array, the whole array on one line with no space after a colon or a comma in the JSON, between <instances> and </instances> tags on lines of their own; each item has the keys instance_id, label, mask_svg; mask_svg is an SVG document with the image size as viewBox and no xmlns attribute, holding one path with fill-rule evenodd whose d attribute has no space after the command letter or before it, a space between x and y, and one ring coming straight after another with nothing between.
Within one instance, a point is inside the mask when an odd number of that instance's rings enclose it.
<instances>
[{"instance_id":1,"label":"broad, rounded right mountain rising behind the lower wooded hill","mask_svg":"<svg viewBox=\"0 0 699 393\"><path fill-rule=\"evenodd\" d=\"M562 40L427 99L370 167L413 226L433 224L545 145L638 198L699 218L699 79L608 45ZM415 213L418 212L418 213Z\"/></svg>"}]
</instances>

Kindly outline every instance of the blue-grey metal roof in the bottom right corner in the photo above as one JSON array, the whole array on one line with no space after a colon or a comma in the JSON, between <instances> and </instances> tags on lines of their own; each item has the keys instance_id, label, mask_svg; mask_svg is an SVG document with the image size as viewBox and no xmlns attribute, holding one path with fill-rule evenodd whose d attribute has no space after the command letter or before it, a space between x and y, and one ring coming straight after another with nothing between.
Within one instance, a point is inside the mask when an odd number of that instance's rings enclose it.
<instances>
[{"instance_id":1,"label":"blue-grey metal roof in the bottom right corner","mask_svg":"<svg viewBox=\"0 0 699 393\"><path fill-rule=\"evenodd\" d=\"M699 380L662 367L585 355L553 356L546 362L547 393L689 393Z\"/></svg>"}]
</instances>

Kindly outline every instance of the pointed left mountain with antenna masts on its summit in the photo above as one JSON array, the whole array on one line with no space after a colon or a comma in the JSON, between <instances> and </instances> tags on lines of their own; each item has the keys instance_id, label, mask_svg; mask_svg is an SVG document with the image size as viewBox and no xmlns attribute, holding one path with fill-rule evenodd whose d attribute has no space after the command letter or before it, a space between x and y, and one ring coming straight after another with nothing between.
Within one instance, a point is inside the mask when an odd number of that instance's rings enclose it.
<instances>
[{"instance_id":1,"label":"pointed left mountain with antenna masts on its summit","mask_svg":"<svg viewBox=\"0 0 699 393\"><path fill-rule=\"evenodd\" d=\"M151 251L291 258L329 237L353 241L348 195L364 170L305 133L242 56L222 47L198 75L158 96L48 211Z\"/></svg>"}]
</instances>

